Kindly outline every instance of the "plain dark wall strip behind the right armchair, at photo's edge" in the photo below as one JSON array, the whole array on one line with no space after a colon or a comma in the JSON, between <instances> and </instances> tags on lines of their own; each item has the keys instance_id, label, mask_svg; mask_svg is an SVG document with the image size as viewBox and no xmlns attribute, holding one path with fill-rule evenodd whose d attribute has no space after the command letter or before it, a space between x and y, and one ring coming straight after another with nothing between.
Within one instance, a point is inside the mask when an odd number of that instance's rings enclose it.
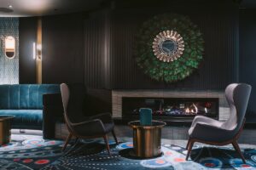
<instances>
[{"instance_id":1,"label":"plain dark wall strip behind the right armchair, at photo's edge","mask_svg":"<svg viewBox=\"0 0 256 170\"><path fill-rule=\"evenodd\" d=\"M240 11L240 82L252 85L252 94L247 111L256 114L256 11L241 9Z\"/></svg>"}]
</instances>

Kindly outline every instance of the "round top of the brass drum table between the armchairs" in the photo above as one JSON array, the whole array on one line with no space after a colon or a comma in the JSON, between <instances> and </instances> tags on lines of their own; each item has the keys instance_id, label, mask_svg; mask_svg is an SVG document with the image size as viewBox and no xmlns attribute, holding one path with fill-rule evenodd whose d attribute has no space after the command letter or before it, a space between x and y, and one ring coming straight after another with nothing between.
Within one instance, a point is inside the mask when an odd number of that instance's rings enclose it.
<instances>
[{"instance_id":1,"label":"round top of the brass drum table between the armchairs","mask_svg":"<svg viewBox=\"0 0 256 170\"><path fill-rule=\"evenodd\" d=\"M152 121L151 125L141 125L140 121L132 121L128 122L128 125L132 128L144 128L144 129L150 129L150 128L161 128L166 126L166 122L160 122L160 121Z\"/></svg>"}]
</instances>

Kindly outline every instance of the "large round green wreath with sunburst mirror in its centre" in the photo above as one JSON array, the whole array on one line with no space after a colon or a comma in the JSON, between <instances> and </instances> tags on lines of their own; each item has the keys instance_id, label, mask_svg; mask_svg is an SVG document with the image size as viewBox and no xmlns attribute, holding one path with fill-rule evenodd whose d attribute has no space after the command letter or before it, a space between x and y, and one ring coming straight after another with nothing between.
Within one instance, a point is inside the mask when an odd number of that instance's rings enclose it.
<instances>
[{"instance_id":1,"label":"large round green wreath with sunburst mirror in its centre","mask_svg":"<svg viewBox=\"0 0 256 170\"><path fill-rule=\"evenodd\" d=\"M200 28L182 14L159 14L144 21L135 42L138 67L158 82L178 82L189 77L203 59Z\"/></svg>"}]
</instances>

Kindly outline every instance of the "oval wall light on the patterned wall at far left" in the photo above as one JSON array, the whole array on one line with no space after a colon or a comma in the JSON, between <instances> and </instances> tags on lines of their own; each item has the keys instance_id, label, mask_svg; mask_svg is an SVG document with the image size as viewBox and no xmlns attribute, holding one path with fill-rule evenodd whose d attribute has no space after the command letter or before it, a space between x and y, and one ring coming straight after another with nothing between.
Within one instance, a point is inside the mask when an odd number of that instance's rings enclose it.
<instances>
[{"instance_id":1,"label":"oval wall light on the patterned wall at far left","mask_svg":"<svg viewBox=\"0 0 256 170\"><path fill-rule=\"evenodd\" d=\"M13 59L15 57L15 37L5 37L4 44L5 56L9 59Z\"/></svg>"}]
</instances>

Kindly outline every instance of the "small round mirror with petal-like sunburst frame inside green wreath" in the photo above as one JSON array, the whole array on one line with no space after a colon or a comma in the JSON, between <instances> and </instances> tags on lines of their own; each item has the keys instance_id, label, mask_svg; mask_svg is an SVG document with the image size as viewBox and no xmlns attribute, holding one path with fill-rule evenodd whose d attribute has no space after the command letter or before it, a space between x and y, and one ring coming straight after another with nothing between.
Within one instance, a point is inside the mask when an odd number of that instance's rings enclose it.
<instances>
[{"instance_id":1,"label":"small round mirror with petal-like sunburst frame inside green wreath","mask_svg":"<svg viewBox=\"0 0 256 170\"><path fill-rule=\"evenodd\" d=\"M164 62L172 62L183 54L183 37L177 31L161 31L153 42L153 51L157 59Z\"/></svg>"}]
</instances>

